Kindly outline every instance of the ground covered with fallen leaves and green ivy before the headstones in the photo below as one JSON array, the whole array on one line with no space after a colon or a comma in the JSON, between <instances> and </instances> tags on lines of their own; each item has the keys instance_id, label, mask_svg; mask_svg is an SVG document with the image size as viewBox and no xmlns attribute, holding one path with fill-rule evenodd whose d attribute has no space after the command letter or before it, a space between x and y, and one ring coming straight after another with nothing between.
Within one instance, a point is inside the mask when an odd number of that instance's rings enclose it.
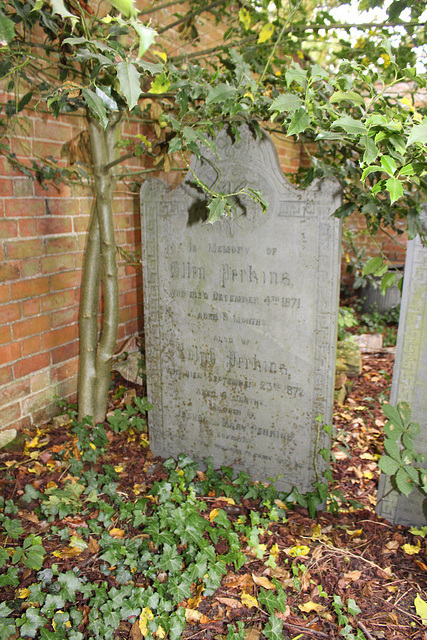
<instances>
[{"instance_id":1,"label":"ground covered with fallen leaves and green ivy before the headstones","mask_svg":"<svg viewBox=\"0 0 427 640\"><path fill-rule=\"evenodd\" d=\"M0 454L0 639L426 640L425 528L374 510L393 355L363 360L334 418L344 499L315 519L246 474L154 458L118 375L114 429L23 432Z\"/></svg>"}]
</instances>

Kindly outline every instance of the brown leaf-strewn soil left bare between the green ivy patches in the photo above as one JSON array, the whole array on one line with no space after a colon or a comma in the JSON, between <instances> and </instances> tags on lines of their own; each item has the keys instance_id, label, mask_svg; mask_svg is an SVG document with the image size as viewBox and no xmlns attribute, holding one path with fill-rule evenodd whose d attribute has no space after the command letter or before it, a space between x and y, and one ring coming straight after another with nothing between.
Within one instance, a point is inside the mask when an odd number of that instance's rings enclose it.
<instances>
[{"instance_id":1,"label":"brown leaf-strewn soil left bare between the green ivy patches","mask_svg":"<svg viewBox=\"0 0 427 640\"><path fill-rule=\"evenodd\" d=\"M286 610L280 613L285 640L342 637L427 640L426 626L414 606L417 595L427 600L427 539L410 533L408 528L393 525L375 513L377 460L382 453L384 425L381 403L387 401L389 395L393 359L390 352L363 355L362 374L350 382L344 406L335 407L334 426L338 438L334 446L334 488L358 506L348 508L343 503L338 513L319 512L314 520L302 507L289 510L287 522L273 523L268 534L260 539L267 549L277 544L278 566L275 569L266 567L255 556L250 557L250 551L248 562L239 571L235 572L229 566L220 589L210 597L198 599L194 607L198 614L194 621L188 621L182 635L184 640L225 640L227 625L237 621L244 623L248 640L264 638L262 629L268 616L256 606L242 606L241 596L247 593L256 598L260 585L268 584L273 577L280 580L287 595ZM132 387L116 377L116 391L120 382ZM120 407L123 402L123 399L112 399L110 410ZM43 430L40 433L43 434ZM34 433L27 436L33 437ZM137 483L141 490L149 493L153 482L164 477L162 460L153 458L148 448L135 455L135 442L123 434L110 432L109 439L108 460L104 458L104 462L125 468L120 476L120 491L132 496ZM2 452L2 468L11 459L22 460L13 479L9 475L8 480L0 480L3 496L6 499L19 497L29 482L43 489L49 482L58 481L60 471L47 463L52 451L60 450L69 442L67 427L49 430L46 446L41 447L38 459L43 465L39 475L30 472L23 454ZM209 509L224 504L215 497L206 499ZM244 500L236 505L233 517L257 507L254 501ZM22 509L20 517L28 523L31 532L43 535L45 525L33 514ZM70 527L76 526L77 520L73 518ZM53 545L47 541L47 548L49 544ZM291 552L296 546L307 546L310 552L292 558ZM50 551L53 550L52 547ZM75 558L64 558L62 569L81 563L90 566L90 580L97 580L100 576L93 556L96 553L88 556L85 552ZM29 574L22 586L33 579ZM111 586L114 586L114 580L111 580ZM349 615L351 631L347 636L340 633L343 627L337 624L337 617L330 614L330 607L328 612L324 606L325 594L329 599L339 596L344 603L354 599L360 608L359 614ZM135 628L124 623L115 637L138 640Z\"/></svg>"}]
</instances>

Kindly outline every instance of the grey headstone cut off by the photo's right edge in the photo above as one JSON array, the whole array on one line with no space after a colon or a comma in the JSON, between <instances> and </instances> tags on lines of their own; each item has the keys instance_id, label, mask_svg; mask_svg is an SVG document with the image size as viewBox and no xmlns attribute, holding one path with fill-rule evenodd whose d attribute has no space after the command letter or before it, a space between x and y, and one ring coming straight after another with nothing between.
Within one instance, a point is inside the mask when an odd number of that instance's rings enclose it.
<instances>
[{"instance_id":1,"label":"grey headstone cut off by the photo's right edge","mask_svg":"<svg viewBox=\"0 0 427 640\"><path fill-rule=\"evenodd\" d=\"M422 214L427 233L427 209ZM421 239L408 242L402 304L397 334L396 359L390 404L407 402L412 420L421 433L416 438L417 453L427 454L427 247ZM381 474L377 513L395 524L426 525L425 496L419 490L408 497L391 490L388 477Z\"/></svg>"}]
</instances>

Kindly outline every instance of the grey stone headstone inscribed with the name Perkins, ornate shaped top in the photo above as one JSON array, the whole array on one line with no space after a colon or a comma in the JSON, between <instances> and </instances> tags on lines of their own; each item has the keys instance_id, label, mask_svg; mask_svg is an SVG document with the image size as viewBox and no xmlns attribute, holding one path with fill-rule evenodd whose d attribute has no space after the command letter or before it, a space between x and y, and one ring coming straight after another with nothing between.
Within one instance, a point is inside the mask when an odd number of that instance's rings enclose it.
<instances>
[{"instance_id":1,"label":"grey stone headstone inscribed with the name Perkins, ornate shaped top","mask_svg":"<svg viewBox=\"0 0 427 640\"><path fill-rule=\"evenodd\" d=\"M339 187L294 188L248 127L216 146L177 189L141 189L150 445L306 491L328 446L316 418L332 412ZM235 216L207 223L193 174L216 192L258 189L267 213L237 196Z\"/></svg>"}]
</instances>

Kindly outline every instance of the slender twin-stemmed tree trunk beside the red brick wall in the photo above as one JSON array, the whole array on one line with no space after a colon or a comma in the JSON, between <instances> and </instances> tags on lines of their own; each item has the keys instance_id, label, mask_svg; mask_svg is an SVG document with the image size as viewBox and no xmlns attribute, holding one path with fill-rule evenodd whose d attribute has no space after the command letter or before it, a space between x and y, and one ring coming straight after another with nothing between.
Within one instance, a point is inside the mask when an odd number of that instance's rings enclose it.
<instances>
[{"instance_id":1,"label":"slender twin-stemmed tree trunk beside the red brick wall","mask_svg":"<svg viewBox=\"0 0 427 640\"><path fill-rule=\"evenodd\" d=\"M111 362L117 339L119 288L113 223L114 180L105 167L114 160L115 131L119 120L107 129L89 120L89 138L94 174L94 208L83 266L80 306L80 361L78 382L79 420L86 416L94 424L103 422L107 409ZM98 339L100 283L104 313Z\"/></svg>"}]
</instances>

